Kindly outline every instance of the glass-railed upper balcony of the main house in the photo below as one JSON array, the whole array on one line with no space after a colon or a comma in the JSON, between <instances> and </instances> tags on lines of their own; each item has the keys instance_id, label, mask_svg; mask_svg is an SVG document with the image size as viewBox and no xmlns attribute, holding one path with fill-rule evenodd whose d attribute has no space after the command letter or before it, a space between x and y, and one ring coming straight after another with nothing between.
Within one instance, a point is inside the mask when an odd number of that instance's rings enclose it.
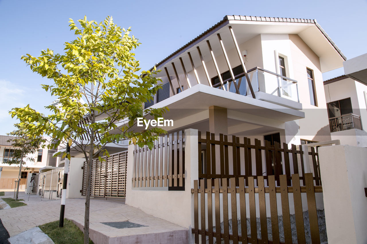
<instances>
[{"instance_id":1,"label":"glass-railed upper balcony of the main house","mask_svg":"<svg viewBox=\"0 0 367 244\"><path fill-rule=\"evenodd\" d=\"M248 70L247 74L256 99L295 108L297 110L302 109L301 104L299 104L297 81L260 67L254 67ZM223 86L219 82L219 79L213 79L214 88L253 97L244 72L235 75L235 82L233 82L230 77L225 79L225 74L223 76ZM227 87L228 85L229 89ZM168 83L162 85L162 89L158 91L158 94L153 97L152 100L145 102L145 108L167 99L169 97L167 96L167 94L170 93L169 91L170 86ZM161 96L162 93L165 94L165 96Z\"/></svg>"}]
</instances>

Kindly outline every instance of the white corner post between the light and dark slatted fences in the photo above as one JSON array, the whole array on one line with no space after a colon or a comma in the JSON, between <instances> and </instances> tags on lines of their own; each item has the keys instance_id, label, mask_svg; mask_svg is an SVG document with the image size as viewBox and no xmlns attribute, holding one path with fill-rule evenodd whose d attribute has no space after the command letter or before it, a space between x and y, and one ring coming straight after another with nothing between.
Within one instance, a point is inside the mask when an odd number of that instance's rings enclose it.
<instances>
[{"instance_id":1,"label":"white corner post between the light and dark slatted fences","mask_svg":"<svg viewBox=\"0 0 367 244\"><path fill-rule=\"evenodd\" d=\"M194 227L194 195L191 189L194 188L194 180L199 180L199 152L198 152L198 131L195 129L185 130L185 195L190 200L191 224L187 226L189 230ZM185 226L186 227L186 226ZM189 234L189 243L194 243L193 234Z\"/></svg>"}]
</instances>

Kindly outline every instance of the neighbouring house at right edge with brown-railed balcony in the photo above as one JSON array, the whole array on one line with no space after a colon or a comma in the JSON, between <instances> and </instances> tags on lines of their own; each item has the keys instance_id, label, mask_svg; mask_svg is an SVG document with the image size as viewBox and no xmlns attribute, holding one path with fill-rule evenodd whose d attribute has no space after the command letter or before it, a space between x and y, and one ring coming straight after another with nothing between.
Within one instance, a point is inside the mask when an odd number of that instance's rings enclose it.
<instances>
[{"instance_id":1,"label":"neighbouring house at right edge with brown-railed balcony","mask_svg":"<svg viewBox=\"0 0 367 244\"><path fill-rule=\"evenodd\" d=\"M367 53L344 62L345 75L324 81L332 140L367 147Z\"/></svg>"}]
</instances>

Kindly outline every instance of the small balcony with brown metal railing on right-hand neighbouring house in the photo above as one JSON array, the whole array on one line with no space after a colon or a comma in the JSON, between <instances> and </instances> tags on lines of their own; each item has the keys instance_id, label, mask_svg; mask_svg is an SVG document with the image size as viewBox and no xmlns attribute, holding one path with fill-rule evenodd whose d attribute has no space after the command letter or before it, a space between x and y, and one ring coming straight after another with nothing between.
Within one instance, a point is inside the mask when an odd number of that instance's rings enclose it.
<instances>
[{"instance_id":1,"label":"small balcony with brown metal railing on right-hand neighbouring house","mask_svg":"<svg viewBox=\"0 0 367 244\"><path fill-rule=\"evenodd\" d=\"M362 130L361 118L355 114L345 114L338 117L329 118L329 124L330 132L350 129Z\"/></svg>"}]
</instances>

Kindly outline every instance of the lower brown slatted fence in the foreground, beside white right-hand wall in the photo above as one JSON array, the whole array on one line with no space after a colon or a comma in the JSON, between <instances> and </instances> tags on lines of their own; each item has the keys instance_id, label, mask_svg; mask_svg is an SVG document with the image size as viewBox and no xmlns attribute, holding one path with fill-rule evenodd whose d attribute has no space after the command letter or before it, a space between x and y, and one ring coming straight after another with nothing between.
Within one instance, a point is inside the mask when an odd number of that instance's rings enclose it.
<instances>
[{"instance_id":1,"label":"lower brown slatted fence in the foreground, beside white right-hand wall","mask_svg":"<svg viewBox=\"0 0 367 244\"><path fill-rule=\"evenodd\" d=\"M309 229L312 244L320 243L319 226L317 220L315 192L322 192L321 186L314 186L312 173L306 173L302 180L305 180L305 186L300 186L300 178L298 174L292 174L291 179L293 186L287 186L288 176L279 175L280 187L276 187L275 175L269 175L268 187L265 187L265 177L257 176L258 187L255 187L255 177L248 177L248 188L245 187L245 178L230 178L230 187L228 188L227 181L222 181L220 188L219 178L214 180L214 189L212 180L207 180L207 189L199 188L199 182L194 181L194 228L192 233L195 236L195 243L293 243L290 221L290 204L294 204L295 224L297 229L298 243L306 243L305 225L301 193L306 193L307 206L309 214ZM239 187L236 187L238 180ZM201 181L201 186L204 186L204 180ZM302 182L302 181L301 181ZM284 242L280 242L277 199L276 193L281 196L281 210L283 215ZM293 203L288 201L288 193L293 195ZM206 196L206 194L208 196ZM212 195L214 194L214 202ZM222 204L220 201L222 194ZM228 195L229 194L229 195ZM237 194L239 195L239 203L237 204ZM246 195L248 194L248 200ZM265 194L269 195L269 200L266 200ZM258 195L258 205L256 205L255 195ZM206 200L207 199L207 200ZM199 205L200 200L200 205ZM229 200L229 201L228 201ZM230 202L230 205L229 205ZM267 204L268 203L268 204ZM246 205L248 204L250 216L246 216ZM271 231L268 233L266 206L270 206ZM230 212L229 212L230 207ZM256 212L259 211L260 226L257 226ZM214 213L214 219L213 219ZM239 216L237 216L239 213ZM230 215L230 216L229 216ZM207 217L206 217L207 216ZM221 216L223 216L223 224L221 227ZM247 219L250 218L250 229L247 229ZM268 217L269 218L269 217ZM232 219L232 231L230 231L229 221ZM237 221L240 219L240 221ZM206 224L207 223L207 224ZM214 229L214 228L215 229ZM258 237L258 232L261 232L261 237ZM248 234L250 232L250 234ZM208 240L206 240L208 237Z\"/></svg>"}]
</instances>

